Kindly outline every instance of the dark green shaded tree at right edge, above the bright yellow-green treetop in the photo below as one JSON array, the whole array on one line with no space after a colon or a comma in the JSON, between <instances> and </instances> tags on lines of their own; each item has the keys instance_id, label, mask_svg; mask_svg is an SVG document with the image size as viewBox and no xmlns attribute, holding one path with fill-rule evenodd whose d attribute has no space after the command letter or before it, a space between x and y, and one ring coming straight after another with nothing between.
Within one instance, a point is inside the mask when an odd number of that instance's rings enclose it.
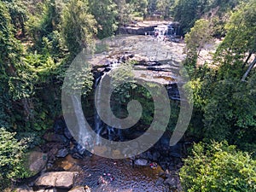
<instances>
[{"instance_id":1,"label":"dark green shaded tree at right edge, above the bright yellow-green treetop","mask_svg":"<svg viewBox=\"0 0 256 192\"><path fill-rule=\"evenodd\" d=\"M250 81L255 82L255 79ZM228 139L238 145L255 143L252 134L256 131L256 103L255 86L252 85L252 82L245 84L234 79L214 84L211 99L204 108L207 138Z\"/></svg>"}]
</instances>

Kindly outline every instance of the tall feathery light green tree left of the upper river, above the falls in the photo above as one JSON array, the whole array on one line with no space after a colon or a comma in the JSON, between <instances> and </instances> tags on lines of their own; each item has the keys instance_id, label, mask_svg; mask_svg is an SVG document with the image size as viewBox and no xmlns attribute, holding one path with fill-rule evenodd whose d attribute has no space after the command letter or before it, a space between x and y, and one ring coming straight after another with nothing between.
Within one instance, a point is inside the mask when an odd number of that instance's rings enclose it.
<instances>
[{"instance_id":1,"label":"tall feathery light green tree left of the upper river, above the falls","mask_svg":"<svg viewBox=\"0 0 256 192\"><path fill-rule=\"evenodd\" d=\"M87 0L71 0L62 15L62 34L69 51L76 55L96 36L96 20L89 13Z\"/></svg>"}]
</instances>

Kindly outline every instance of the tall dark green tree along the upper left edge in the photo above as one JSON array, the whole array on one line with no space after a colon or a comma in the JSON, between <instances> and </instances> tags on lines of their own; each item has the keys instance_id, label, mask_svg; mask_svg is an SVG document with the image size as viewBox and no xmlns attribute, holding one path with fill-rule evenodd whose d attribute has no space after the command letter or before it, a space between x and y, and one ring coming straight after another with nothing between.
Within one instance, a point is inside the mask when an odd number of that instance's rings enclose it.
<instances>
[{"instance_id":1,"label":"tall dark green tree along the upper left edge","mask_svg":"<svg viewBox=\"0 0 256 192\"><path fill-rule=\"evenodd\" d=\"M0 125L9 127L14 121L12 98L15 97L9 84L11 79L18 78L15 66L20 64L21 49L14 38L9 11L3 2L0 2L0 23Z\"/></svg>"}]
</instances>

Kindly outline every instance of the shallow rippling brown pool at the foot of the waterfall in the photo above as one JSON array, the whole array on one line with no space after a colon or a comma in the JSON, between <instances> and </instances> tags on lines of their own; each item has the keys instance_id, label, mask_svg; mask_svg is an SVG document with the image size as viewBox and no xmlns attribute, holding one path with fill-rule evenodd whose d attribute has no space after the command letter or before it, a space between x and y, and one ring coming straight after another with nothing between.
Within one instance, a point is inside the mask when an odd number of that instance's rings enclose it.
<instances>
[{"instance_id":1,"label":"shallow rippling brown pool at the foot of the waterfall","mask_svg":"<svg viewBox=\"0 0 256 192\"><path fill-rule=\"evenodd\" d=\"M55 166L66 171L77 171L75 186L88 185L92 192L171 191L158 183L160 166L131 166L130 160L110 160L96 155L75 160L70 155L56 161Z\"/></svg>"}]
</instances>

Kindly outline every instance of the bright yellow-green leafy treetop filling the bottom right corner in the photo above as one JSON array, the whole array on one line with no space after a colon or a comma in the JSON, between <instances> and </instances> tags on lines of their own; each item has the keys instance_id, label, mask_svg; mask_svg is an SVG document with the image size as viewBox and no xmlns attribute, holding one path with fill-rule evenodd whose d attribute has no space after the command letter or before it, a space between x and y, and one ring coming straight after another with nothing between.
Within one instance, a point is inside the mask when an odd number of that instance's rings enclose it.
<instances>
[{"instance_id":1,"label":"bright yellow-green leafy treetop filling the bottom right corner","mask_svg":"<svg viewBox=\"0 0 256 192\"><path fill-rule=\"evenodd\" d=\"M194 144L180 177L185 191L255 191L256 161L226 142Z\"/></svg>"}]
</instances>

